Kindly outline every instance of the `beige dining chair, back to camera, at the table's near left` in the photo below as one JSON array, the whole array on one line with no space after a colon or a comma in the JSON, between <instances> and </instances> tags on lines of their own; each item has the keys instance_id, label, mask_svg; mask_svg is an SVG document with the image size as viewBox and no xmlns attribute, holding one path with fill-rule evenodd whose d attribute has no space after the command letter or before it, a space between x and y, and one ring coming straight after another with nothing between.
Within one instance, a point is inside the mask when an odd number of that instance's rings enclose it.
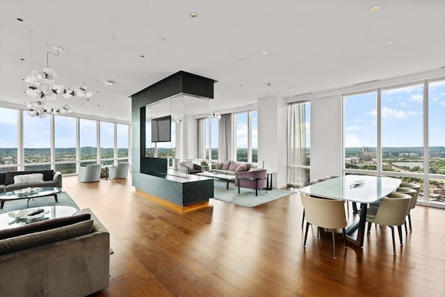
<instances>
[{"instance_id":1,"label":"beige dining chair, back to camera, at the table's near left","mask_svg":"<svg viewBox=\"0 0 445 297\"><path fill-rule=\"evenodd\" d=\"M345 227L348 224L348 222L346 221L345 202L343 200L314 198L306 194L301 194L301 201L306 211L306 231L303 247L306 247L309 225L317 226L317 237L318 228L330 229L332 232L332 247L334 249L334 259L337 259L337 255L335 252L335 230L343 230L345 248L348 248L348 243L346 243L345 231Z\"/></svg>"}]
</instances>

